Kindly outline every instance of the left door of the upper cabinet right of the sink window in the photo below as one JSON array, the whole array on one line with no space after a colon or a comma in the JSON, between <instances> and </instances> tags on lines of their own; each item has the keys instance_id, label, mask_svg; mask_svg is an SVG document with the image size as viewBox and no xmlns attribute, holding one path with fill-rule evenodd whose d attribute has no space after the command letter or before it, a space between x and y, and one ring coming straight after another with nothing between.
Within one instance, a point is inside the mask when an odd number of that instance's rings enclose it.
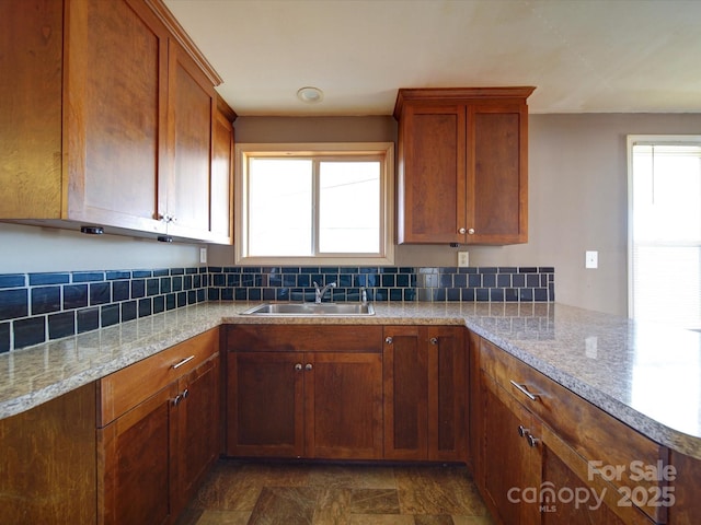
<instances>
[{"instance_id":1,"label":"left door of the upper cabinet right of the sink window","mask_svg":"<svg viewBox=\"0 0 701 525\"><path fill-rule=\"evenodd\" d=\"M399 143L398 242L464 242L464 106L409 105Z\"/></svg>"}]
</instances>

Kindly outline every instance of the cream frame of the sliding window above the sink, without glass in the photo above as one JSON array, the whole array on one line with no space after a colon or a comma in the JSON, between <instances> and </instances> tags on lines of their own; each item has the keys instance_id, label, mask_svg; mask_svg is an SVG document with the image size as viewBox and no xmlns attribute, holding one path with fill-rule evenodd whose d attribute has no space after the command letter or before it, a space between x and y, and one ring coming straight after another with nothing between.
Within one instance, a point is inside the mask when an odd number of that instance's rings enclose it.
<instances>
[{"instance_id":1,"label":"cream frame of the sliding window above the sink, without glass","mask_svg":"<svg viewBox=\"0 0 701 525\"><path fill-rule=\"evenodd\" d=\"M253 257L248 247L248 165L250 158L294 154L312 158L381 156L380 253L337 254L309 257ZM235 144L234 254L237 265L248 266L393 266L394 265L394 143L393 142L311 142ZM358 213L363 212L358 203ZM312 226L313 228L313 226ZM315 234L315 232L314 232Z\"/></svg>"}]
</instances>

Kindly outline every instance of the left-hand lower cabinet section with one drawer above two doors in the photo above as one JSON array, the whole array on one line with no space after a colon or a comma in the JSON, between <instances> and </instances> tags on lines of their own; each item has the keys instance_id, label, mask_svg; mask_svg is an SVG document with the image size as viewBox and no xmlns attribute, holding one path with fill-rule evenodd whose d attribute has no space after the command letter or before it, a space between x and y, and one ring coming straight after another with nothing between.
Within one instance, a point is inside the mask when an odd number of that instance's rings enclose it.
<instances>
[{"instance_id":1,"label":"left-hand lower cabinet section with one drawer above two doors","mask_svg":"<svg viewBox=\"0 0 701 525\"><path fill-rule=\"evenodd\" d=\"M219 456L219 383L218 329L100 380L97 523L173 523Z\"/></svg>"}]
</instances>

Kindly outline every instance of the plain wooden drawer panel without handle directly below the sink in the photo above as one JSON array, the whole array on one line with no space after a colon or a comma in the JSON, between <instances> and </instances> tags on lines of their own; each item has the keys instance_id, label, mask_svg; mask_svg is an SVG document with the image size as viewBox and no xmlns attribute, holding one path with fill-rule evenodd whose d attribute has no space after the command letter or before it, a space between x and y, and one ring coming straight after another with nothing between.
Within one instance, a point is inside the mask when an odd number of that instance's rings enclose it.
<instances>
[{"instance_id":1,"label":"plain wooden drawer panel without handle directly below the sink","mask_svg":"<svg viewBox=\"0 0 701 525\"><path fill-rule=\"evenodd\" d=\"M352 325L235 325L227 335L231 352L381 352L382 327Z\"/></svg>"}]
</instances>

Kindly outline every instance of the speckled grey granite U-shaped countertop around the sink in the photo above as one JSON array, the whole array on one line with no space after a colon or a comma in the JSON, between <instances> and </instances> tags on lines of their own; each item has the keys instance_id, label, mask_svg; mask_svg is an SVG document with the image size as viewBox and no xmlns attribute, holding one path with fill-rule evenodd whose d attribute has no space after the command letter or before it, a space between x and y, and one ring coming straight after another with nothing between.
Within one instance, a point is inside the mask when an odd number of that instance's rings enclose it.
<instances>
[{"instance_id":1,"label":"speckled grey granite U-shaped countertop around the sink","mask_svg":"<svg viewBox=\"0 0 701 525\"><path fill-rule=\"evenodd\" d=\"M209 302L0 354L0 419L220 324L463 325L650 439L701 459L701 335L552 303L376 303L368 317L252 317Z\"/></svg>"}]
</instances>

